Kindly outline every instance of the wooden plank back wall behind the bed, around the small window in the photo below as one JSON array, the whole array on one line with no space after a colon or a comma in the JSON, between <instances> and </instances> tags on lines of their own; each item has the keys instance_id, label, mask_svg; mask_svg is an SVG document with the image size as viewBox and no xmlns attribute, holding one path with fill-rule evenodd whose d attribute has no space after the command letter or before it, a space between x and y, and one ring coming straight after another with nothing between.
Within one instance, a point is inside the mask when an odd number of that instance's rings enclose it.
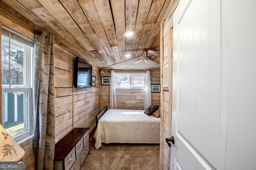
<instances>
[{"instance_id":1,"label":"wooden plank back wall behind the bed, around the small window","mask_svg":"<svg viewBox=\"0 0 256 170\"><path fill-rule=\"evenodd\" d=\"M104 76L110 77L111 70L104 70ZM144 73L145 70L115 70L124 73ZM150 70L151 84L160 84L160 70ZM100 109L109 108L110 86L100 85ZM160 92L152 92L152 104L160 104ZM144 110L145 89L116 89L117 109Z\"/></svg>"}]
</instances>

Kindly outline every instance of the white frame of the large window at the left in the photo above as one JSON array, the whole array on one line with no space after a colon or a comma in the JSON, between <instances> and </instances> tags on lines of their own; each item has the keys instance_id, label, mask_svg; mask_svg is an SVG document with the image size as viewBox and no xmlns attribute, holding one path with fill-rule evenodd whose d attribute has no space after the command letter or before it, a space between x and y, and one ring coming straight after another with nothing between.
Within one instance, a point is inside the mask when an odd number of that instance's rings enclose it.
<instances>
[{"instance_id":1,"label":"white frame of the large window at the left","mask_svg":"<svg viewBox=\"0 0 256 170\"><path fill-rule=\"evenodd\" d=\"M8 32L8 35L6 33ZM17 143L21 143L30 139L34 136L34 114L33 114L33 94L32 94L32 69L33 69L33 55L34 55L34 39L26 37L4 25L2 25L2 35L5 35L11 39L15 39L19 43L25 45L24 48L24 84L23 85L2 85L2 125L4 125L4 93L15 93L23 92L24 93L24 102L26 107L23 111L24 123L26 123L25 131L15 135L13 138ZM3 40L2 40L3 41ZM1 41L1 53L2 53L2 41ZM1 55L2 56L2 55ZM10 56L9 56L10 57ZM2 58L1 58L2 62ZM2 69L2 68L1 68ZM1 76L2 79L2 76ZM2 82L2 81L1 81ZM26 94L26 95L25 95Z\"/></svg>"}]
</instances>

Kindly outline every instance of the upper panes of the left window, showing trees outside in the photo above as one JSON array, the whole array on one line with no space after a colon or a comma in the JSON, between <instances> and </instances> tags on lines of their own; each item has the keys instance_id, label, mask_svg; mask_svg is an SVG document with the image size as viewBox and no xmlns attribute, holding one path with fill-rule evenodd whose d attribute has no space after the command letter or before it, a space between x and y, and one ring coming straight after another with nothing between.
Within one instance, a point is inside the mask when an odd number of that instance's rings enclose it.
<instances>
[{"instance_id":1,"label":"upper panes of the left window, showing trees outside","mask_svg":"<svg viewBox=\"0 0 256 170\"><path fill-rule=\"evenodd\" d=\"M2 84L9 84L9 53L10 53L10 84L24 86L24 48L25 45L11 39L9 51L9 37L2 35Z\"/></svg>"}]
</instances>

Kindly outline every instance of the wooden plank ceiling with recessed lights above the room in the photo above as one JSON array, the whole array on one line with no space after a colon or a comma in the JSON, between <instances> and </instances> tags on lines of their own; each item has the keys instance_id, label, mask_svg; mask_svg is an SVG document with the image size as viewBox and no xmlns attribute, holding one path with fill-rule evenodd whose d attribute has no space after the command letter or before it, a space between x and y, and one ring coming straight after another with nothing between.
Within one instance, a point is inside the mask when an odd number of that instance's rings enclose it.
<instances>
[{"instance_id":1,"label":"wooden plank ceiling with recessed lights above the room","mask_svg":"<svg viewBox=\"0 0 256 170\"><path fill-rule=\"evenodd\" d=\"M156 63L134 63L145 48L156 47L160 56L160 21L171 1L1 0L0 14L55 35L57 44L97 68L160 69ZM128 30L135 34L124 37Z\"/></svg>"}]
</instances>

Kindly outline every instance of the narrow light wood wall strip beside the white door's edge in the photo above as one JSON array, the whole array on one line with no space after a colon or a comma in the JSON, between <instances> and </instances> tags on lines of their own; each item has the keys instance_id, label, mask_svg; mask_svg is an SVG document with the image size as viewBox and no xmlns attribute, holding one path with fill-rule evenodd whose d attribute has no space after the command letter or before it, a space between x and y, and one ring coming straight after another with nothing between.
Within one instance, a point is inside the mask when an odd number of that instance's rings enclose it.
<instances>
[{"instance_id":1,"label":"narrow light wood wall strip beside the white door's edge","mask_svg":"<svg viewBox=\"0 0 256 170\"><path fill-rule=\"evenodd\" d=\"M172 13L178 5L179 0L171 0L167 13L164 14L164 20L161 21L161 74L163 67L168 64L168 88L161 91L161 137L160 137L160 169L168 170L170 168L170 148L166 145L165 138L171 137L172 129L172 47L173 47L173 17ZM161 78L161 82L163 79ZM163 83L161 85L163 87Z\"/></svg>"}]
</instances>

